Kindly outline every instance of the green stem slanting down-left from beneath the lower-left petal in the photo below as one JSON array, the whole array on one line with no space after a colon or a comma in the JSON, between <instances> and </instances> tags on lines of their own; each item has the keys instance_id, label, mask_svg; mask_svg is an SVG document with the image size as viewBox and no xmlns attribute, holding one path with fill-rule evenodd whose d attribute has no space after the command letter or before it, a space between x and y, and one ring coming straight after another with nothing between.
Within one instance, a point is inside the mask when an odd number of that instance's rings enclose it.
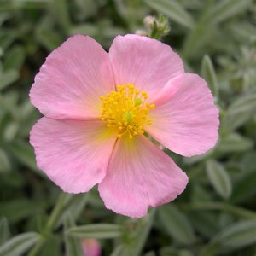
<instances>
[{"instance_id":1,"label":"green stem slanting down-left from beneath the lower-left petal","mask_svg":"<svg viewBox=\"0 0 256 256\"><path fill-rule=\"evenodd\" d=\"M61 216L61 212L63 211L64 206L65 206L66 196L67 196L67 194L65 194L65 193L61 193L61 195L59 196L59 199L58 199L57 203L55 204L53 211L50 214L49 220L44 227L41 239L36 243L36 245L34 247L32 247L32 250L30 251L30 253L28 253L28 256L38 255L41 248L44 246L44 242L46 241L46 239L50 236L50 234L54 230L55 224L57 223L58 219Z\"/></svg>"}]
</instances>

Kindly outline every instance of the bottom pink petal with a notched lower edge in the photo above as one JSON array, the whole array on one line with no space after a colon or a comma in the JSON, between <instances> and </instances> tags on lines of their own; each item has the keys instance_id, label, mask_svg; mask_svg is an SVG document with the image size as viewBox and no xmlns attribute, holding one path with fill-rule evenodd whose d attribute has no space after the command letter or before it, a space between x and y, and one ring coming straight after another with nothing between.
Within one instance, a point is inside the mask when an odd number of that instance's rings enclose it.
<instances>
[{"instance_id":1,"label":"bottom pink petal with a notched lower edge","mask_svg":"<svg viewBox=\"0 0 256 256\"><path fill-rule=\"evenodd\" d=\"M99 192L108 209L140 218L148 207L174 200L188 183L186 174L147 137L118 140Z\"/></svg>"}]
</instances>

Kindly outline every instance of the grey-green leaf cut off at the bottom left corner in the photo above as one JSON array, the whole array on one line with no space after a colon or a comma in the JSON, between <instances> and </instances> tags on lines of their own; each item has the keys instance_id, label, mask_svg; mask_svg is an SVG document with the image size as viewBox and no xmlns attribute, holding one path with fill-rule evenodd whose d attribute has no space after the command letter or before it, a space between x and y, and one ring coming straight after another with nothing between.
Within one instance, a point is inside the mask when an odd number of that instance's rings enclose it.
<instances>
[{"instance_id":1,"label":"grey-green leaf cut off at the bottom left corner","mask_svg":"<svg viewBox=\"0 0 256 256\"><path fill-rule=\"evenodd\" d=\"M20 256L32 247L32 245L34 245L39 239L40 236L35 232L28 232L15 236L0 247L0 255Z\"/></svg>"}]
</instances>

